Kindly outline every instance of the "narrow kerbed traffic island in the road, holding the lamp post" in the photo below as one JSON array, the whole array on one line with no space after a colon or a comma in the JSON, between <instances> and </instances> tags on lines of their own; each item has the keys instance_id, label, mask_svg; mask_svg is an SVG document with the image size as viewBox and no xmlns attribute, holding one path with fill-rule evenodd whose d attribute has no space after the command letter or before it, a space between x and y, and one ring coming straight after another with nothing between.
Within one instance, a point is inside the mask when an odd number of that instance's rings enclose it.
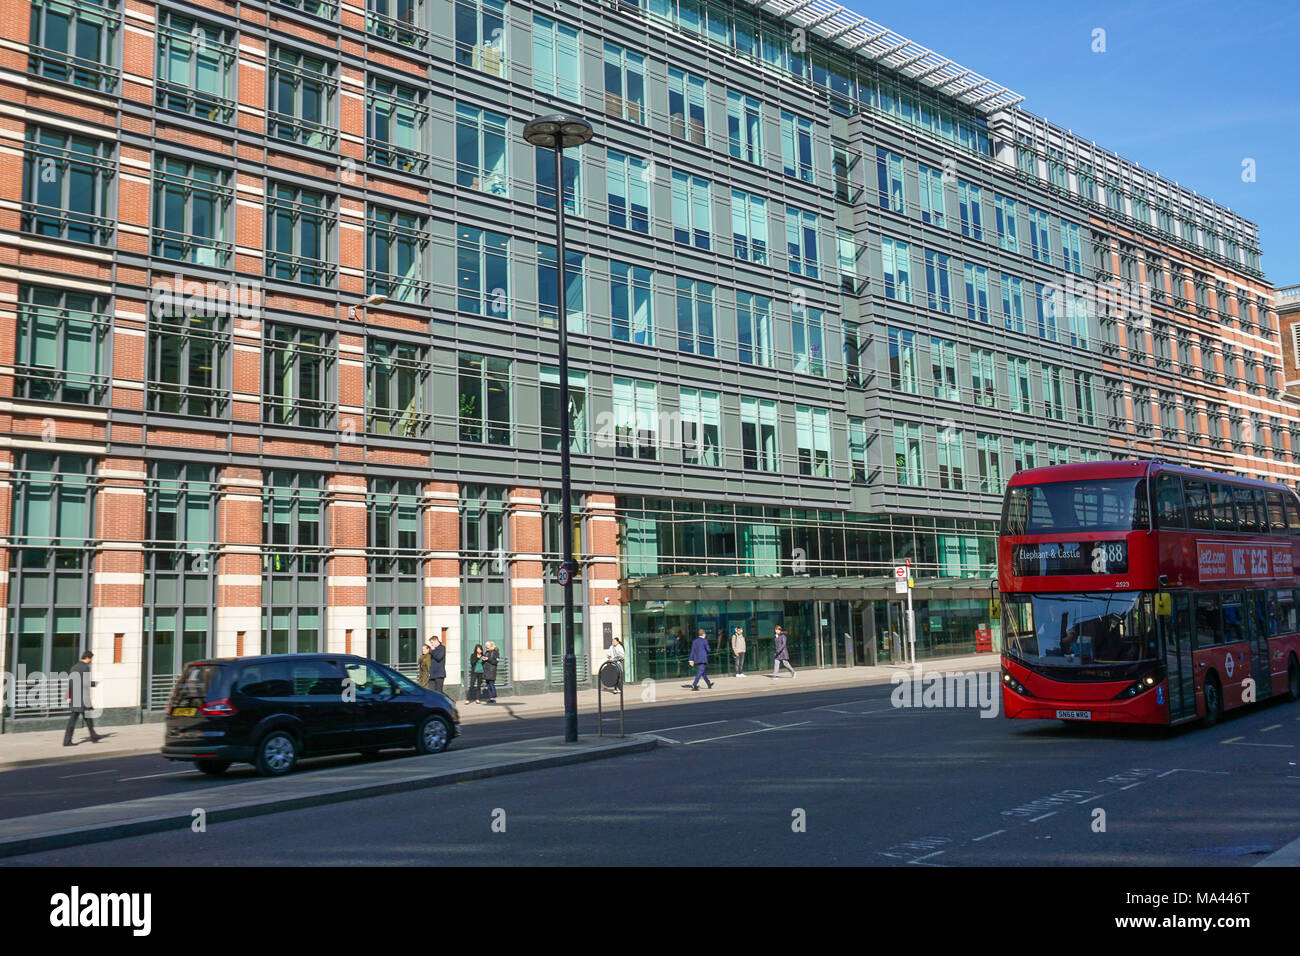
<instances>
[{"instance_id":1,"label":"narrow kerbed traffic island in the road, holding the lamp post","mask_svg":"<svg viewBox=\"0 0 1300 956\"><path fill-rule=\"evenodd\" d=\"M584 737L576 744L562 737L540 737L468 750L452 747L442 753L382 763L296 771L238 786L186 788L116 804L14 817L0 821L0 857L188 829L198 809L211 825L641 753L654 749L655 743L646 736Z\"/></svg>"}]
</instances>

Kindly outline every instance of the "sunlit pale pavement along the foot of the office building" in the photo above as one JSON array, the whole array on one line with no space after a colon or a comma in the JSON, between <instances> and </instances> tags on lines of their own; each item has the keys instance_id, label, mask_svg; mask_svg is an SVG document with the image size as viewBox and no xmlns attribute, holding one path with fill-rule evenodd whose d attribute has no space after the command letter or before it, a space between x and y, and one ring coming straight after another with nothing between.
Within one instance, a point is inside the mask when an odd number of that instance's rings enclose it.
<instances>
[{"instance_id":1,"label":"sunlit pale pavement along the foot of the office building","mask_svg":"<svg viewBox=\"0 0 1300 956\"><path fill-rule=\"evenodd\" d=\"M942 657L920 662L923 671L968 671L987 670L998 666L997 654L972 654L966 657ZM797 678L790 678L783 672L779 678L772 678L770 672L750 672L744 678L731 674L710 675L714 689L706 689L699 684L699 691L690 689L690 678L675 680L642 680L628 684L624 688L624 708L644 709L647 706L662 706L676 702L698 702L701 700L733 700L737 697L753 697L758 695L801 693L815 689L868 687L874 684L888 684L894 675L910 672L910 667L896 665L879 665L875 667L827 667L820 670L800 669ZM619 698L608 691L599 692L603 696L606 719L612 717L607 728L618 730ZM580 691L577 695L578 711L594 714L597 710L595 689ZM482 722L497 722L502 719L528 719L530 717L551 717L564 713L564 695L559 691L552 693L540 693L520 697L499 697L497 704L469 704L456 701L460 710L460 721L464 726ZM165 726L161 722L99 726L99 732L104 736L98 744L90 741L84 724L78 724L73 737L74 747L64 747L64 732L52 731L23 731L17 734L0 734L0 771L20 767L44 766L49 763L62 763L68 761L100 760L103 757L126 757L142 753L157 753L162 747Z\"/></svg>"}]
</instances>

